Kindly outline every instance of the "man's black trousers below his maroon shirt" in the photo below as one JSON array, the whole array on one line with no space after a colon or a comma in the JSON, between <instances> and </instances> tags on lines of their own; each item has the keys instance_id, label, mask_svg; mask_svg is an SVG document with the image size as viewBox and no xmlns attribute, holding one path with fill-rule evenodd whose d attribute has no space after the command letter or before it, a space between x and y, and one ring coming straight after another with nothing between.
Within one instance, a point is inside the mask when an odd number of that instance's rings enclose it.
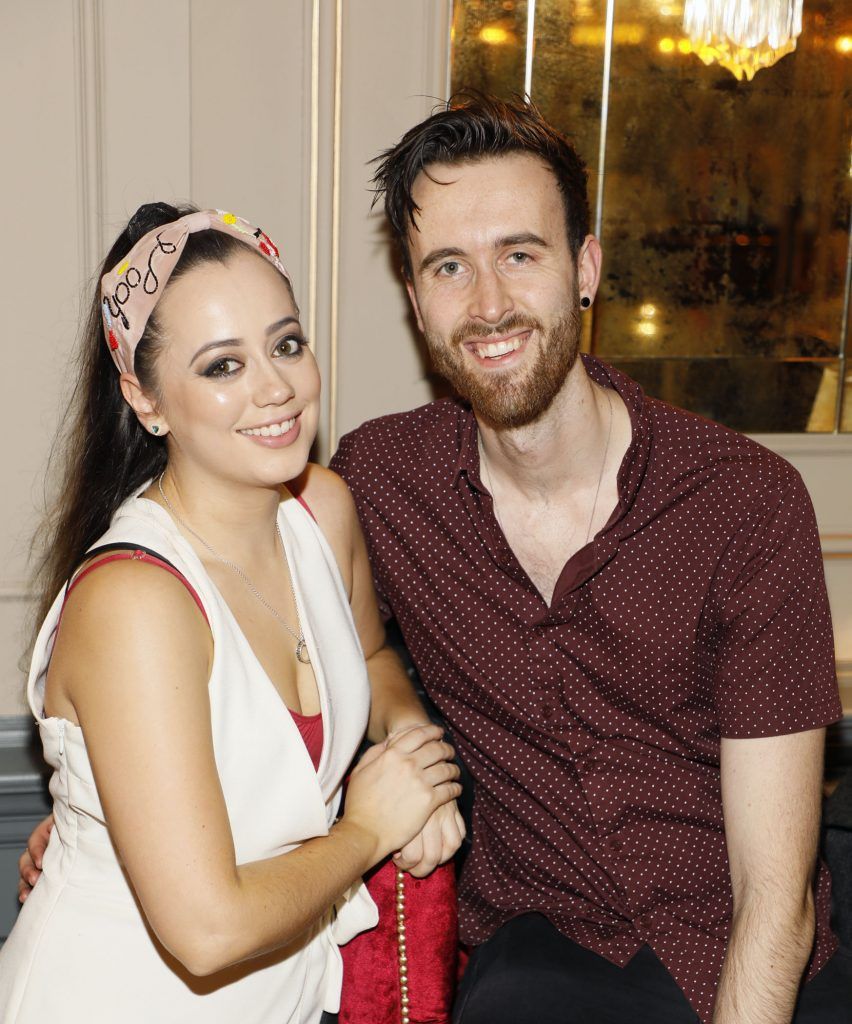
<instances>
[{"instance_id":1,"label":"man's black trousers below his maroon shirt","mask_svg":"<svg viewBox=\"0 0 852 1024\"><path fill-rule=\"evenodd\" d=\"M538 913L477 946L454 1024L698 1024L648 946L620 968ZM841 950L802 989L793 1024L852 1024L852 954Z\"/></svg>"}]
</instances>

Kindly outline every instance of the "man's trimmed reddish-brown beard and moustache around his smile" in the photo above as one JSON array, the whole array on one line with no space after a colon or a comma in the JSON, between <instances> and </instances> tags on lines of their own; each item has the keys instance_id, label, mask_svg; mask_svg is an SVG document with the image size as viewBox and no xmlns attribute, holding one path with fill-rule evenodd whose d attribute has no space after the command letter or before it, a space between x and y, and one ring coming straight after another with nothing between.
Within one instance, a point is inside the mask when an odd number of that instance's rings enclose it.
<instances>
[{"instance_id":1,"label":"man's trimmed reddish-brown beard and moustache around his smile","mask_svg":"<svg viewBox=\"0 0 852 1024\"><path fill-rule=\"evenodd\" d=\"M519 329L536 331L539 337L531 369L476 373L466 365L464 341L499 337ZM571 305L549 330L535 316L512 313L493 328L468 321L453 332L449 342L429 331L425 337L435 370L470 402L476 416L493 427L512 429L525 427L550 409L577 361L581 333L580 313Z\"/></svg>"}]
</instances>

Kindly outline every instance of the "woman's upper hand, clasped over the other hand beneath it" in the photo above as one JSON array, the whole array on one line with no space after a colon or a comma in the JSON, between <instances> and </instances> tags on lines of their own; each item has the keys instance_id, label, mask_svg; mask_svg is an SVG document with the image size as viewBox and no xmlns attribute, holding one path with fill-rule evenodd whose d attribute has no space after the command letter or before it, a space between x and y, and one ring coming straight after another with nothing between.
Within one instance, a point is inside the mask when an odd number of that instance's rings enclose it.
<instances>
[{"instance_id":1,"label":"woman's upper hand, clasped over the other hand beneath it","mask_svg":"<svg viewBox=\"0 0 852 1024\"><path fill-rule=\"evenodd\" d=\"M342 822L372 838L375 862L404 848L460 796L454 751L441 736L436 725L406 729L372 746L352 771Z\"/></svg>"}]
</instances>

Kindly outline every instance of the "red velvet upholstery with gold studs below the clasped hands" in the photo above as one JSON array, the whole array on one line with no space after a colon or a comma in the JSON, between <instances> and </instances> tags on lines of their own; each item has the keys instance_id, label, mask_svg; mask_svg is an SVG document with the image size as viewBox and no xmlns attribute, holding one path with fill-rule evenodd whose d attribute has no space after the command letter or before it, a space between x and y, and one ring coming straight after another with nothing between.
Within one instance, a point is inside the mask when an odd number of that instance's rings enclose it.
<instances>
[{"instance_id":1,"label":"red velvet upholstery with gold studs below the clasped hands","mask_svg":"<svg viewBox=\"0 0 852 1024\"><path fill-rule=\"evenodd\" d=\"M450 1024L459 956L452 862L414 879L387 860L366 882L379 924L340 948L339 1024Z\"/></svg>"}]
</instances>

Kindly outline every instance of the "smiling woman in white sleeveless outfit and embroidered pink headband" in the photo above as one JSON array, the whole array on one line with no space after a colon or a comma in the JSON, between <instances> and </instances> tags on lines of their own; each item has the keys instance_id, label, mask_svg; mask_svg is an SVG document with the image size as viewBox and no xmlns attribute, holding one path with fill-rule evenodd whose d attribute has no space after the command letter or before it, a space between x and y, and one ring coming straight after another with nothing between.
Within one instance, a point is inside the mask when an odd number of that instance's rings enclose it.
<instances>
[{"instance_id":1,"label":"smiling woman in white sleeveless outfit and embroidered pink headband","mask_svg":"<svg viewBox=\"0 0 852 1024\"><path fill-rule=\"evenodd\" d=\"M316 1021L376 921L364 871L460 838L452 749L307 462L320 380L270 240L140 208L86 344L28 686L55 826L0 1019Z\"/></svg>"}]
</instances>

